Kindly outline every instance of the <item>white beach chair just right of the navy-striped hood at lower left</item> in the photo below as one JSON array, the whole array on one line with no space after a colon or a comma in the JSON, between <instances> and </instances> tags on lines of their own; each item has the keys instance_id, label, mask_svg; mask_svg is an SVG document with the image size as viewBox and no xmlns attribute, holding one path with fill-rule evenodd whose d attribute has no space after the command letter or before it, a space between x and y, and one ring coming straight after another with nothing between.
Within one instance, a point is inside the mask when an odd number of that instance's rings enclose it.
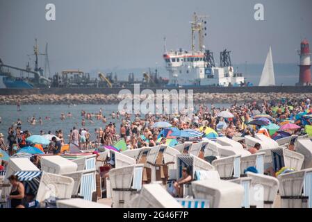
<instances>
[{"instance_id":1,"label":"white beach chair just right of the navy-striped hood at lower left","mask_svg":"<svg viewBox=\"0 0 312 222\"><path fill-rule=\"evenodd\" d=\"M42 172L36 200L39 203L49 198L69 199L74 189L74 180L67 176Z\"/></svg>"}]
</instances>

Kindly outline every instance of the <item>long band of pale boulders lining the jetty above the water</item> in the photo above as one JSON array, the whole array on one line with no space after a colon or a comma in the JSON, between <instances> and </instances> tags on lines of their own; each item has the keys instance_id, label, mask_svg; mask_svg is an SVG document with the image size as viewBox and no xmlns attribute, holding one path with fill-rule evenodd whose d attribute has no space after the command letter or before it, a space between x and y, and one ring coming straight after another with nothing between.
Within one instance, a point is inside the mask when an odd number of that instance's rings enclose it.
<instances>
[{"instance_id":1,"label":"long band of pale boulders lining the jetty above the water","mask_svg":"<svg viewBox=\"0 0 312 222\"><path fill-rule=\"evenodd\" d=\"M131 94L126 95L131 99ZM140 95L140 100L147 98L145 94ZM156 96L155 96L156 98ZM173 99L179 99L173 95ZM305 99L312 98L311 93L195 93L194 103L233 103L234 101L248 102L261 100L279 100L283 98ZM118 94L28 94L28 95L0 95L1 105L15 105L17 101L21 104L115 104L122 101L124 97Z\"/></svg>"}]
</instances>

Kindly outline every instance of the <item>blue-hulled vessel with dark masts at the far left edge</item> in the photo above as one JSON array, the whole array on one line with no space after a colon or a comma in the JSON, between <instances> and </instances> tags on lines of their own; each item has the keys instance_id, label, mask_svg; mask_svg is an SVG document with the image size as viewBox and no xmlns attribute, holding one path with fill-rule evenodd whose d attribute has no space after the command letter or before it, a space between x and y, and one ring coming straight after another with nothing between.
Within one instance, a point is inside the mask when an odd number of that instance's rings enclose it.
<instances>
[{"instance_id":1,"label":"blue-hulled vessel with dark masts at the far left edge","mask_svg":"<svg viewBox=\"0 0 312 222\"><path fill-rule=\"evenodd\" d=\"M46 52L44 54L39 54L37 39L35 39L35 46L33 46L33 56L35 56L35 67L31 70L29 62L26 66L26 69L19 67L14 67L12 65L5 65L0 59L0 76L3 77L3 84L6 88L10 89L33 89L33 88L42 88L49 87L51 80L44 76L43 69L38 67L38 56L45 55L47 58L47 45ZM49 67L49 60L48 67ZM17 72L20 73L20 76L15 76Z\"/></svg>"}]
</instances>

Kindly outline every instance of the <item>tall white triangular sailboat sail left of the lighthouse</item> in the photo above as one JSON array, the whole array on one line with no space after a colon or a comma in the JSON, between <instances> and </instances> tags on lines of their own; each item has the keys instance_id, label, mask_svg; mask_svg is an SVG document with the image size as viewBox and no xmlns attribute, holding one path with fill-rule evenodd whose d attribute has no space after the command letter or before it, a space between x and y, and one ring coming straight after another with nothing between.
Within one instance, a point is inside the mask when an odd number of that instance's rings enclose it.
<instances>
[{"instance_id":1,"label":"tall white triangular sailboat sail left of the lighthouse","mask_svg":"<svg viewBox=\"0 0 312 222\"><path fill-rule=\"evenodd\" d=\"M259 86L269 86L275 85L275 78L274 78L274 66L272 60L272 51L271 46L268 52L268 56L265 60L265 65L262 70L262 75L260 79Z\"/></svg>"}]
</instances>

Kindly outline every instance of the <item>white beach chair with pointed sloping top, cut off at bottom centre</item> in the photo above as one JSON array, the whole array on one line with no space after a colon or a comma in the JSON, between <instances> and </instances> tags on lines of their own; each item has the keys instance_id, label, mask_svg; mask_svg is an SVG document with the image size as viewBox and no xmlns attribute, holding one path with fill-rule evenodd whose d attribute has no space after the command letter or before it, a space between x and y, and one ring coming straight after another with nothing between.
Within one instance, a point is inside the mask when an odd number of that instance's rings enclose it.
<instances>
[{"instance_id":1,"label":"white beach chair with pointed sloping top, cut off at bottom centre","mask_svg":"<svg viewBox=\"0 0 312 222\"><path fill-rule=\"evenodd\" d=\"M182 208L161 185L143 185L142 191L138 194L128 207L133 208Z\"/></svg>"}]
</instances>

